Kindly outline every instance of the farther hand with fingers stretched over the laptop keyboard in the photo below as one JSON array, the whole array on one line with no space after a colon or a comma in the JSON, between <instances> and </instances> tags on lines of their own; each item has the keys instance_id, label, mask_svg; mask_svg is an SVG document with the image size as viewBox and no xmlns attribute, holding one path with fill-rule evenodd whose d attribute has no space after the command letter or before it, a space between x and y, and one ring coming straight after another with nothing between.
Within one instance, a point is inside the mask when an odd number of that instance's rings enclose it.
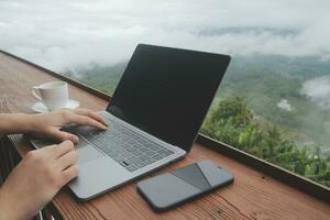
<instances>
[{"instance_id":1,"label":"farther hand with fingers stretched over the laptop keyboard","mask_svg":"<svg viewBox=\"0 0 330 220\"><path fill-rule=\"evenodd\" d=\"M78 136L61 129L70 123L87 124L100 130L107 130L106 120L88 109L59 110L50 113L31 114L30 133L36 136L48 136L59 141L79 141Z\"/></svg>"}]
</instances>

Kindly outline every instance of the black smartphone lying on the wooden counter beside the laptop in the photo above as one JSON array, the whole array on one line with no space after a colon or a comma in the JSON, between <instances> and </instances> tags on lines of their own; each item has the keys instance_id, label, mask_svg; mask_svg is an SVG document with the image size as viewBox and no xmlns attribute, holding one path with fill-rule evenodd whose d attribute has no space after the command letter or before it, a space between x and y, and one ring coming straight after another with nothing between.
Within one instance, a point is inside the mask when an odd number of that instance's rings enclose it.
<instances>
[{"instance_id":1,"label":"black smartphone lying on the wooden counter beside the laptop","mask_svg":"<svg viewBox=\"0 0 330 220\"><path fill-rule=\"evenodd\" d=\"M155 211L165 211L229 185L233 179L231 172L207 160L141 180L138 191Z\"/></svg>"}]
</instances>

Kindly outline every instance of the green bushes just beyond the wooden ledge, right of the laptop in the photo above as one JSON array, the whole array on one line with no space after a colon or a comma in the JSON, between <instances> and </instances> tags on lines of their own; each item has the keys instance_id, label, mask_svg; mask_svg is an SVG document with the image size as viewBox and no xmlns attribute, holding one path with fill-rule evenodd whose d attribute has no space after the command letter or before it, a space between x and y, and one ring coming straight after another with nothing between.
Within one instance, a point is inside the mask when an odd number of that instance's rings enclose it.
<instances>
[{"instance_id":1,"label":"green bushes just beyond the wooden ledge, right of the laptop","mask_svg":"<svg viewBox=\"0 0 330 220\"><path fill-rule=\"evenodd\" d=\"M242 98L220 101L201 133L330 187L330 157L284 139L274 124L262 128Z\"/></svg>"}]
</instances>

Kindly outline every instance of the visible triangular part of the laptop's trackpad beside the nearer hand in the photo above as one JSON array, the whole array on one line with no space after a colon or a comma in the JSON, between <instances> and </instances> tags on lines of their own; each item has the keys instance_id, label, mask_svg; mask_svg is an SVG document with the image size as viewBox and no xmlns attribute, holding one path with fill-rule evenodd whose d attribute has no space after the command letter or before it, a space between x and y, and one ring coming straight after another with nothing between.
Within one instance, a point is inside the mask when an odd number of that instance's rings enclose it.
<instances>
[{"instance_id":1,"label":"visible triangular part of the laptop's trackpad beside the nearer hand","mask_svg":"<svg viewBox=\"0 0 330 220\"><path fill-rule=\"evenodd\" d=\"M94 161L98 157L105 156L101 152L96 150L94 146L91 146L85 140L79 141L79 144L77 146L77 152L78 152L78 163L77 163L78 165L85 164L85 163Z\"/></svg>"}]
</instances>

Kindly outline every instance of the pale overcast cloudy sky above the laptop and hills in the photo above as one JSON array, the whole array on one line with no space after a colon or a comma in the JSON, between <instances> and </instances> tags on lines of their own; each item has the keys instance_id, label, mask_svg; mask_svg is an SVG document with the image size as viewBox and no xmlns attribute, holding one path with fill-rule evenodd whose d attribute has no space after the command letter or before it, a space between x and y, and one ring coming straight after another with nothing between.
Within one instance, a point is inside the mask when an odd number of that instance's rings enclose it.
<instances>
[{"instance_id":1,"label":"pale overcast cloudy sky above the laptop and hills","mask_svg":"<svg viewBox=\"0 0 330 220\"><path fill-rule=\"evenodd\" d=\"M57 72L116 64L138 43L328 61L329 10L329 0L1 0L0 50ZM226 29L244 26L274 30Z\"/></svg>"}]
</instances>

